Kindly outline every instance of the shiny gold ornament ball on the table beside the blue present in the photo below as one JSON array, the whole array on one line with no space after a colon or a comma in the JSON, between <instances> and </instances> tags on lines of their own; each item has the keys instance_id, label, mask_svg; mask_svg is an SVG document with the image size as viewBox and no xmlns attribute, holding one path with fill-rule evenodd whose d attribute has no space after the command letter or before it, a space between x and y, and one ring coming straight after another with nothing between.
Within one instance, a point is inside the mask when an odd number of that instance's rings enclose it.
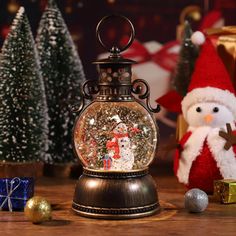
<instances>
[{"instance_id":1,"label":"shiny gold ornament ball on the table beside the blue present","mask_svg":"<svg viewBox=\"0 0 236 236\"><path fill-rule=\"evenodd\" d=\"M27 201L24 212L28 220L39 224L51 219L52 208L45 198L35 196Z\"/></svg>"}]
</instances>

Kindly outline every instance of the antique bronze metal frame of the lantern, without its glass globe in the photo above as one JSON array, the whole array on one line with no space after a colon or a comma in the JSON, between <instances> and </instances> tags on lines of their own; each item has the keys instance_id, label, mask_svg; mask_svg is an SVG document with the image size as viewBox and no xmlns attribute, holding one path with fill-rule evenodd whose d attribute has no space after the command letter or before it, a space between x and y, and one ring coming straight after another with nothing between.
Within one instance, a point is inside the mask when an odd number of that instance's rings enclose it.
<instances>
[{"instance_id":1,"label":"antique bronze metal frame of the lantern, without its glass globe","mask_svg":"<svg viewBox=\"0 0 236 236\"><path fill-rule=\"evenodd\" d=\"M107 48L100 36L100 27L105 21L113 17L125 19L131 27L131 36L123 48L117 46L111 49ZM148 83L142 79L136 79L132 82L131 65L135 62L120 55L134 40L135 31L130 20L120 15L105 16L98 23L96 34L101 45L110 52L110 56L94 62L99 66L99 80L88 80L84 83L81 103L73 106L72 109L78 114L74 126L73 144L75 154L80 159L80 154L75 145L75 134L80 126L81 117L86 115L89 107L96 103L106 105L109 103L137 103L141 107L140 109L147 111L148 114L160 111L159 105L155 108L150 105ZM93 102L85 106L86 99L93 99ZM144 102L140 102L140 100ZM158 127L155 120L152 120L152 123L154 124L153 129L156 131L155 139L158 143ZM155 155L156 146L153 149L153 155ZM72 209L76 213L93 218L127 219L148 216L160 210L156 184L148 174L148 165L151 162L143 168L127 171L96 169L86 166L83 161L82 163L84 171L77 181L72 203Z\"/></svg>"}]
</instances>

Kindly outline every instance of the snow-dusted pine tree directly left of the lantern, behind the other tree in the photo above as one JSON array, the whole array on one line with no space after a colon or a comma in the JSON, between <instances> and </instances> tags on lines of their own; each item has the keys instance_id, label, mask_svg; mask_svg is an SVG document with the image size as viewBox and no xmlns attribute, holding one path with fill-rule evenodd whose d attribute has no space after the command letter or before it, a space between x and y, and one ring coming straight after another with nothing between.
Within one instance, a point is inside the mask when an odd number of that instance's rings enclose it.
<instances>
[{"instance_id":1,"label":"snow-dusted pine tree directly left of the lantern, behind the other tree","mask_svg":"<svg viewBox=\"0 0 236 236\"><path fill-rule=\"evenodd\" d=\"M45 83L49 114L50 164L74 161L70 105L81 99L83 67L67 26L54 0L40 21L36 44Z\"/></svg>"}]
</instances>

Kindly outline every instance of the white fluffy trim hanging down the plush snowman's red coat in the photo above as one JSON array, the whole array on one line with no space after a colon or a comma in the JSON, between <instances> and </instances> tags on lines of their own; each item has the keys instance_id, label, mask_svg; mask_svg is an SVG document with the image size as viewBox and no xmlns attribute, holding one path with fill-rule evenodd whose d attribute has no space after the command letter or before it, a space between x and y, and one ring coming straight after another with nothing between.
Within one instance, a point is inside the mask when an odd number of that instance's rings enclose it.
<instances>
[{"instance_id":1,"label":"white fluffy trim hanging down the plush snowman's red coat","mask_svg":"<svg viewBox=\"0 0 236 236\"><path fill-rule=\"evenodd\" d=\"M235 130L235 124L231 124L232 130ZM211 128L203 126L199 128L189 127L188 131L191 135L184 144L183 152L181 153L177 177L181 183L188 184L189 173L193 161L201 154L204 141L207 140L207 145L216 160L217 166L223 178L236 178L236 158L233 148L228 151L224 149L225 139L219 136L219 131L224 128Z\"/></svg>"}]
</instances>

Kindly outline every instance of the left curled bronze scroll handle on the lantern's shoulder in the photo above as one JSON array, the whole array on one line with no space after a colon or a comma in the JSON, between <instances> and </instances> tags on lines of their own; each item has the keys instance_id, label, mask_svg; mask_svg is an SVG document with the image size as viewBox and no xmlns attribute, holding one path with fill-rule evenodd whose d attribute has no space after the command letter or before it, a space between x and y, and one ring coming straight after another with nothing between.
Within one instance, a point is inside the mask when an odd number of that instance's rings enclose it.
<instances>
[{"instance_id":1,"label":"left curled bronze scroll handle on the lantern's shoulder","mask_svg":"<svg viewBox=\"0 0 236 236\"><path fill-rule=\"evenodd\" d=\"M82 87L82 96L80 103L71 106L72 113L80 113L85 106L85 99L91 100L94 94L99 92L97 80L86 80Z\"/></svg>"}]
</instances>

